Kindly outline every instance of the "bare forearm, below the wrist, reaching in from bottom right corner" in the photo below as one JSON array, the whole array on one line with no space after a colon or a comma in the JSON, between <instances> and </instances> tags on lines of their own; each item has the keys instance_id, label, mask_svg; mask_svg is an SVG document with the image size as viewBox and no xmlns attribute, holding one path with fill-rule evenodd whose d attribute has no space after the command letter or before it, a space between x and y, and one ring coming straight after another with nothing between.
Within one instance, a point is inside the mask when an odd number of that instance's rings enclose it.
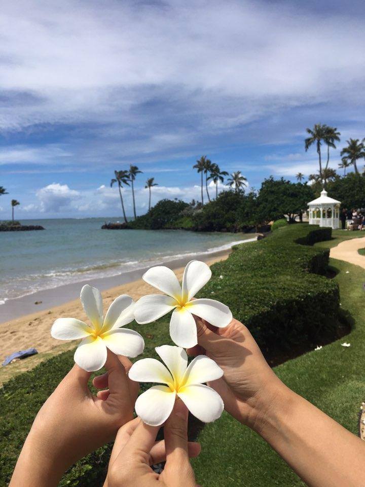
<instances>
[{"instance_id":1,"label":"bare forearm, below the wrist, reaching in from bottom right corner","mask_svg":"<svg viewBox=\"0 0 365 487\"><path fill-rule=\"evenodd\" d=\"M311 487L364 484L362 440L285 386L262 408L253 429Z\"/></svg>"}]
</instances>

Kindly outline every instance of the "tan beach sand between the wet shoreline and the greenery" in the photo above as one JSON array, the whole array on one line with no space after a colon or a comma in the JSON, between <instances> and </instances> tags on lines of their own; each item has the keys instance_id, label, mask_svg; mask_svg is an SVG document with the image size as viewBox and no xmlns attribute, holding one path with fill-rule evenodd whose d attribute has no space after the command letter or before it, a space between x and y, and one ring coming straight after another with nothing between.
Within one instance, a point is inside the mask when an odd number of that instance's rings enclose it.
<instances>
[{"instance_id":1,"label":"tan beach sand between the wet shoreline and the greenery","mask_svg":"<svg viewBox=\"0 0 365 487\"><path fill-rule=\"evenodd\" d=\"M214 262L227 259L230 250L220 255L209 257L205 262L208 265ZM177 279L181 281L184 267L174 269ZM145 294L156 294L158 291L152 286L145 283L142 279L113 287L102 292L104 310L120 294L129 294L134 300L137 300ZM83 310L80 299L69 301L59 306L51 307L42 311L35 312L31 315L0 323L2 340L0 341L0 359L1 362L7 355L18 350L25 350L34 347L39 355L28 357L16 361L0 369L0 384L8 380L17 373L29 370L42 360L49 358L57 353L69 350L76 345L76 341L61 342L51 337L50 330L53 322L60 317L78 318L82 321L88 321Z\"/></svg>"}]
</instances>

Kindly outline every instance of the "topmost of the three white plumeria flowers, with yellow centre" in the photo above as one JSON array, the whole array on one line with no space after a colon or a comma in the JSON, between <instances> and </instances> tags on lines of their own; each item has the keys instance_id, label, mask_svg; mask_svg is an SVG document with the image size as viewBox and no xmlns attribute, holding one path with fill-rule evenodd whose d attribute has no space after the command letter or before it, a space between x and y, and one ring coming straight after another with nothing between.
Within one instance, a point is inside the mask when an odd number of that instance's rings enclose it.
<instances>
[{"instance_id":1,"label":"topmost of the three white plumeria flowers, with yellow centre","mask_svg":"<svg viewBox=\"0 0 365 487\"><path fill-rule=\"evenodd\" d=\"M214 299L194 299L196 293L209 281L211 270L198 260L188 263L182 277L182 288L174 272L165 266L151 267L143 279L163 294L142 296L135 304L137 323L151 323L173 310L170 336L176 345L189 348L198 343L193 315L203 318L213 326L224 328L232 320L228 306ZM166 296L167 295L167 296Z\"/></svg>"}]
</instances>

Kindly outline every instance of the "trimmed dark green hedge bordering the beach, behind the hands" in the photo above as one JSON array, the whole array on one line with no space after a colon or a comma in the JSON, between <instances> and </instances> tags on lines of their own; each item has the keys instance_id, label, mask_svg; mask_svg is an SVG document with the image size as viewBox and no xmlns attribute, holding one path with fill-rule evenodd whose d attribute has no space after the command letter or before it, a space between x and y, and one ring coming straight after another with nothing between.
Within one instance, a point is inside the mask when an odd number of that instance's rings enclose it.
<instances>
[{"instance_id":1,"label":"trimmed dark green hedge bordering the beach, behind the hands","mask_svg":"<svg viewBox=\"0 0 365 487\"><path fill-rule=\"evenodd\" d=\"M326 271L329 250L312 247L330 238L331 229L298 224L236 246L226 261L212 266L212 279L200 296L228 304L265 355L317 343L319 334L333 332L338 322L338 286L317 275ZM145 339L143 356L153 357L154 346L171 343L168 322L164 317L151 325L132 326ZM34 416L71 368L72 356L73 351L53 357L0 390L0 487L8 484ZM106 445L86 456L69 469L60 485L101 486L110 450Z\"/></svg>"}]
</instances>

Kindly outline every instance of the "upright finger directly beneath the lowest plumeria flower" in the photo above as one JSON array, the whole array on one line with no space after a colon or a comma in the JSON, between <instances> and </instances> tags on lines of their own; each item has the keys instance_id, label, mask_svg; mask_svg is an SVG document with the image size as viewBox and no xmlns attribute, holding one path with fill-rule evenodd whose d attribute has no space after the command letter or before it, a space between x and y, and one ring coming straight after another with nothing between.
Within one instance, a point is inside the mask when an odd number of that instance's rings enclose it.
<instances>
[{"instance_id":1,"label":"upright finger directly beneath the lowest plumeria flower","mask_svg":"<svg viewBox=\"0 0 365 487\"><path fill-rule=\"evenodd\" d=\"M171 462L175 457L188 459L188 408L176 398L169 419L165 423L164 437L166 460Z\"/></svg>"}]
</instances>

